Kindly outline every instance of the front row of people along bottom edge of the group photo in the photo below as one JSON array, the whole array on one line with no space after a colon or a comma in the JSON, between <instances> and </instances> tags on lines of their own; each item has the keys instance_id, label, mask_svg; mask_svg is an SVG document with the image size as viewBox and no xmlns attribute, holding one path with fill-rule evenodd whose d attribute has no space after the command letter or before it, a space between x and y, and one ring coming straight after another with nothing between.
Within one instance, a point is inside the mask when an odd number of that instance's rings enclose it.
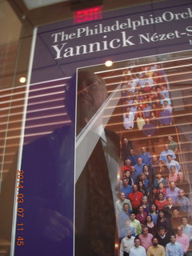
<instances>
[{"instance_id":1,"label":"front row of people along bottom edge of the group photo","mask_svg":"<svg viewBox=\"0 0 192 256\"><path fill-rule=\"evenodd\" d=\"M149 233L147 226L143 226L142 234L136 237L130 229L127 230L121 242L120 256L186 256L189 244L188 235L184 234L182 226L178 226L176 235L160 227L156 236Z\"/></svg>"}]
</instances>

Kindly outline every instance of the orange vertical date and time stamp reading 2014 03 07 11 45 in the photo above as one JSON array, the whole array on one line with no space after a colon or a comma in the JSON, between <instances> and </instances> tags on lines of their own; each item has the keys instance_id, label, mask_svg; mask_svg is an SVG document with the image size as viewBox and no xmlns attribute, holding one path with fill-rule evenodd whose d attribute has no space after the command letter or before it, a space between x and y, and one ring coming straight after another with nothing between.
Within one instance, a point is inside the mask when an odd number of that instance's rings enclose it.
<instances>
[{"instance_id":1,"label":"orange vertical date and time stamp reading 2014 03 07 11 45","mask_svg":"<svg viewBox=\"0 0 192 256\"><path fill-rule=\"evenodd\" d=\"M22 194L22 189L24 189L24 170L18 170L17 171L17 191L16 194L16 200L18 203L17 208L17 216L18 216L18 222L16 227L16 243L17 246L24 246L24 238L23 238L23 231L24 231L24 223L23 223L23 217L24 217L24 208L22 203L24 202L24 194Z\"/></svg>"}]
</instances>

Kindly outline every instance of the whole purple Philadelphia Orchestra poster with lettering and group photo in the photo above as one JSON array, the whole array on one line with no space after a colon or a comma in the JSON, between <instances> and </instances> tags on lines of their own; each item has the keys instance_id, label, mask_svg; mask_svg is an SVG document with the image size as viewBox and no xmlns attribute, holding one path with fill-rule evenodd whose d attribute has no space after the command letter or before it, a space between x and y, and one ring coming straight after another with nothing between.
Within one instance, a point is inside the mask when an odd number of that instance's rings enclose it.
<instances>
[{"instance_id":1,"label":"whole purple Philadelphia Orchestra poster with lettering and group photo","mask_svg":"<svg viewBox=\"0 0 192 256\"><path fill-rule=\"evenodd\" d=\"M163 1L34 30L15 255L122 255L147 214L152 237L190 220L191 18L191 1ZM158 216L169 198L179 222Z\"/></svg>"}]
</instances>

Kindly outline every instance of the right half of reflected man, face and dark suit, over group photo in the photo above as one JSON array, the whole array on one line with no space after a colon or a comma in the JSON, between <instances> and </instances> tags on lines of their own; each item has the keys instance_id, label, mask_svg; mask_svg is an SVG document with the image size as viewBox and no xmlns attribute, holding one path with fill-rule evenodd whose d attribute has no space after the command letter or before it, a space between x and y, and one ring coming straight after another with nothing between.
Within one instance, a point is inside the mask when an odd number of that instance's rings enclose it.
<instances>
[{"instance_id":1,"label":"right half of reflected man, face and dark suit, over group photo","mask_svg":"<svg viewBox=\"0 0 192 256\"><path fill-rule=\"evenodd\" d=\"M78 92L77 134L82 134L86 126L87 141L93 143L93 150L82 154L86 159L80 173L78 161L76 163L75 256L112 256L115 254L114 202L118 192L119 138L102 126L102 106L107 99L102 79L82 71L78 74ZM91 123L93 116L94 125ZM82 117L86 118L82 120Z\"/></svg>"}]
</instances>

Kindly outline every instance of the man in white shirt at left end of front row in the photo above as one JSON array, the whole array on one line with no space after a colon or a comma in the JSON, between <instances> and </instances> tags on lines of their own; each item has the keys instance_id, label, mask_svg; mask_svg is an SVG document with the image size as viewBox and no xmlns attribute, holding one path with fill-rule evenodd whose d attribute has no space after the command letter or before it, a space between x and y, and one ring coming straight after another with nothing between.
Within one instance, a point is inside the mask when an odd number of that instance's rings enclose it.
<instances>
[{"instance_id":1,"label":"man in white shirt at left end of front row","mask_svg":"<svg viewBox=\"0 0 192 256\"><path fill-rule=\"evenodd\" d=\"M134 246L134 237L132 236L132 231L127 230L126 238L122 238L120 246L120 256L129 256L130 249Z\"/></svg>"}]
</instances>

